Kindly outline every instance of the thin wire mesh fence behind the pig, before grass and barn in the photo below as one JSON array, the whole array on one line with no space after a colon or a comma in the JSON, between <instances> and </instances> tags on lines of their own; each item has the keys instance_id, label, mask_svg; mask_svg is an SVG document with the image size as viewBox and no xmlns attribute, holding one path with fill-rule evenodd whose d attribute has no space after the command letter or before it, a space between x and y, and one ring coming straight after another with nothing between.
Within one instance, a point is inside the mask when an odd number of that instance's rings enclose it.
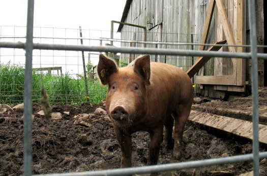
<instances>
[{"instance_id":1,"label":"thin wire mesh fence behind the pig, before grass and barn","mask_svg":"<svg viewBox=\"0 0 267 176\"><path fill-rule=\"evenodd\" d=\"M25 26L0 26L1 42L25 42ZM124 32L126 33L126 32ZM131 31L128 31L131 33ZM157 35L157 33L150 33ZM140 33L144 35L144 33ZM192 34L167 34L176 40L169 43L157 41L122 41L118 34L117 39L110 39L110 31L103 30L82 30L74 28L53 28L34 27L33 42L37 44L51 45L76 45L76 46L111 46L118 48L121 46L140 47L146 45L147 48L165 49L192 49L198 45L193 41L197 38ZM179 41L187 36L192 43ZM91 51L69 51L69 50L34 50L33 51L33 102L40 102L41 89L45 88L50 96L51 104L61 102L64 104L80 104L83 101L98 103L105 99L106 87L100 86L96 76L96 65L98 63L99 52ZM119 66L126 66L136 58L139 53L116 53L106 52L109 57L117 60ZM7 104L18 104L23 102L23 85L25 69L24 50L18 48L0 48L0 101ZM194 63L194 56L175 55L151 55L152 61L172 63L183 67L185 71ZM85 65L83 65L85 60ZM85 66L85 70L83 68ZM85 75L84 75L85 73ZM88 86L85 86L85 79ZM86 81L86 83L87 83ZM194 81L193 81L194 82Z\"/></svg>"}]
</instances>

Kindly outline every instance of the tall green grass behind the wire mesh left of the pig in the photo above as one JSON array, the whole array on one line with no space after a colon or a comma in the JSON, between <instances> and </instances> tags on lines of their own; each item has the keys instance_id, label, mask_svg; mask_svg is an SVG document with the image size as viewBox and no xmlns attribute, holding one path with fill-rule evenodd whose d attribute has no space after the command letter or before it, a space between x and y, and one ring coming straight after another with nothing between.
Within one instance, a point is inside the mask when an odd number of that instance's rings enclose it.
<instances>
[{"instance_id":1,"label":"tall green grass behind the wire mesh left of the pig","mask_svg":"<svg viewBox=\"0 0 267 176\"><path fill-rule=\"evenodd\" d=\"M107 87L96 80L88 80L88 96L84 79L74 79L71 75L62 76L33 72L33 102L40 103L41 89L49 95L50 104L81 104L82 102L99 103L105 99ZM0 64L0 103L18 104L24 99L24 67Z\"/></svg>"}]
</instances>

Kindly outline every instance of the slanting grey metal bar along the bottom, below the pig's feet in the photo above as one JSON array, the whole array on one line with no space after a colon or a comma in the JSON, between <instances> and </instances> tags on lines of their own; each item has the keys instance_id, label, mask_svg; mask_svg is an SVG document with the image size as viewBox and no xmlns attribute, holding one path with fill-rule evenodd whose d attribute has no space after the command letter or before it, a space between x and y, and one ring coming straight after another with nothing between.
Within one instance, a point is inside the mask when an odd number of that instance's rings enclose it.
<instances>
[{"instance_id":1,"label":"slanting grey metal bar along the bottom, below the pig's feet","mask_svg":"<svg viewBox=\"0 0 267 176\"><path fill-rule=\"evenodd\" d=\"M262 152L259 154L260 158L267 158L267 152ZM123 168L123 169L107 169L107 170L97 170L97 171L87 171L87 172L71 172L71 173L53 173L53 174L39 174L39 176L95 176L95 175L129 175L129 174L142 174L149 172L162 172L162 171L171 171L171 170L181 170L188 168L196 168L203 166L212 166L219 164L227 164L234 162L250 161L253 160L253 154L238 155L224 158L213 158L205 159L198 161L187 161L179 163L170 163L170 164L161 164L153 166L143 166L143 167L132 167L132 168Z\"/></svg>"}]
</instances>

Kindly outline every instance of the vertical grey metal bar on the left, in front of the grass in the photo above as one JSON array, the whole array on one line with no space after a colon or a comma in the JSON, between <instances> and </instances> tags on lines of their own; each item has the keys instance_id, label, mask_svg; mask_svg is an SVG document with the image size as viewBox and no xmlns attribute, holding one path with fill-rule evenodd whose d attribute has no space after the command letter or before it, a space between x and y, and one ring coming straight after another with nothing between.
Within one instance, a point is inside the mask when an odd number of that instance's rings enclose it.
<instances>
[{"instance_id":1,"label":"vertical grey metal bar on the left, in front of the grass","mask_svg":"<svg viewBox=\"0 0 267 176\"><path fill-rule=\"evenodd\" d=\"M28 0L26 29L26 60L24 80L24 175L32 175L32 94L33 94L33 30L34 30L34 0Z\"/></svg>"}]
</instances>

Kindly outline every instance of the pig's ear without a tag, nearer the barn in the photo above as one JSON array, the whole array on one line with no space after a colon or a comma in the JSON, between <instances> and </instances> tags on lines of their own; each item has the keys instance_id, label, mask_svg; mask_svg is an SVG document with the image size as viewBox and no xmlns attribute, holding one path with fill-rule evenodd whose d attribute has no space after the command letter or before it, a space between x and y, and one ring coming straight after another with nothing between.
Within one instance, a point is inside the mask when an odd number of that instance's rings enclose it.
<instances>
[{"instance_id":1,"label":"pig's ear without a tag, nearer the barn","mask_svg":"<svg viewBox=\"0 0 267 176\"><path fill-rule=\"evenodd\" d=\"M134 72L143 77L147 85L150 85L150 55L142 55L136 59Z\"/></svg>"}]
</instances>

